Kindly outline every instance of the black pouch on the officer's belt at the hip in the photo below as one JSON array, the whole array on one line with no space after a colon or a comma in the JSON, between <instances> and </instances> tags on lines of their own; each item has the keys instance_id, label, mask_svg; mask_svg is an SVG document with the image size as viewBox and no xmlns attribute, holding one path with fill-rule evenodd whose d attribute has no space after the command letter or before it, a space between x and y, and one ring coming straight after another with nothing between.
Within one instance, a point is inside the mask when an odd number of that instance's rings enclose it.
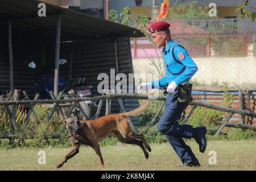
<instances>
[{"instance_id":1,"label":"black pouch on the officer's belt at the hip","mask_svg":"<svg viewBox=\"0 0 256 182\"><path fill-rule=\"evenodd\" d=\"M192 101L192 84L189 82L184 82L177 87L178 90L178 98L179 102L186 102L189 103Z\"/></svg>"}]
</instances>

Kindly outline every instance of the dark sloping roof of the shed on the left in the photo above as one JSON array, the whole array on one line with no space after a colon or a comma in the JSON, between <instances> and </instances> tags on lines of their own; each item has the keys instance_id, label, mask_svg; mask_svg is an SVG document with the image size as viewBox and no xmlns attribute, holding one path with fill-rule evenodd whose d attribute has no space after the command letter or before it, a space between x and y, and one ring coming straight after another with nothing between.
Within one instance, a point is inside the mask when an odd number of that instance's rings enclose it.
<instances>
[{"instance_id":1,"label":"dark sloping roof of the shed on the left","mask_svg":"<svg viewBox=\"0 0 256 182\"><path fill-rule=\"evenodd\" d=\"M61 14L61 41L87 37L144 36L135 28L48 3L45 3L46 17L39 17L39 3L41 2L35 0L1 0L0 22L11 19L14 26L35 28L55 35L57 19L55 14L59 13Z\"/></svg>"}]
</instances>

